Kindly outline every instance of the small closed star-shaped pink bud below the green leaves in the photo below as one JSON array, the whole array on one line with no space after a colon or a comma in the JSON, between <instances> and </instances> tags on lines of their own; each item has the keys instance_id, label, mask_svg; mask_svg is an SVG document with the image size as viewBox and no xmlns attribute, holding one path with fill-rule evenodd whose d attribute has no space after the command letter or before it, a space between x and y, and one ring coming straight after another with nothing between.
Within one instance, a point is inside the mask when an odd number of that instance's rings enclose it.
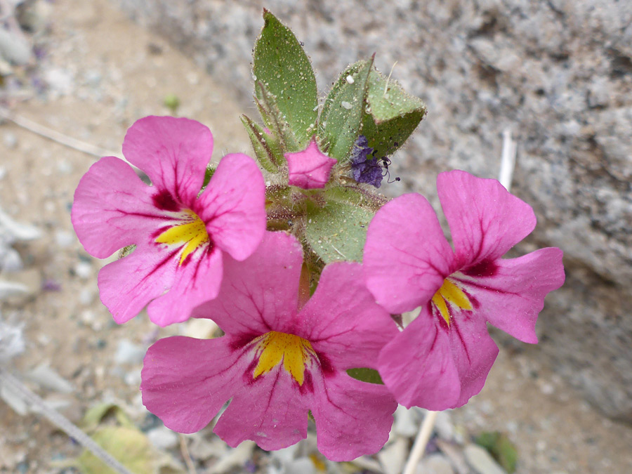
<instances>
[{"instance_id":1,"label":"small closed star-shaped pink bud below the green leaves","mask_svg":"<svg viewBox=\"0 0 632 474\"><path fill-rule=\"evenodd\" d=\"M331 168L336 160L329 158L318 149L316 140L312 138L310 144L302 152L286 153L289 185L309 190L324 187L329 180Z\"/></svg>"}]
</instances>

